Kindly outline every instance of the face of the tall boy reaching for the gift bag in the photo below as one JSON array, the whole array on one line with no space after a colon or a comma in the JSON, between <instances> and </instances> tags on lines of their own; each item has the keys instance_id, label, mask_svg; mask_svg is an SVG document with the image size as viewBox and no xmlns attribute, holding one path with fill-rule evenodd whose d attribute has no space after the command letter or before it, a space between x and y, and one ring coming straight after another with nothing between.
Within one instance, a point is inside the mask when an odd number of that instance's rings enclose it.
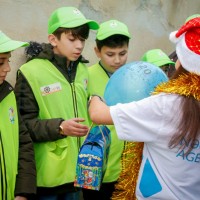
<instances>
[{"instance_id":1,"label":"face of the tall boy reaching for the gift bag","mask_svg":"<svg viewBox=\"0 0 200 200\"><path fill-rule=\"evenodd\" d=\"M80 40L79 38L75 38L68 32L62 33L60 40L55 37L51 44L54 46L53 50L55 54L66 57L68 61L76 61L83 51L85 39Z\"/></svg>"}]
</instances>

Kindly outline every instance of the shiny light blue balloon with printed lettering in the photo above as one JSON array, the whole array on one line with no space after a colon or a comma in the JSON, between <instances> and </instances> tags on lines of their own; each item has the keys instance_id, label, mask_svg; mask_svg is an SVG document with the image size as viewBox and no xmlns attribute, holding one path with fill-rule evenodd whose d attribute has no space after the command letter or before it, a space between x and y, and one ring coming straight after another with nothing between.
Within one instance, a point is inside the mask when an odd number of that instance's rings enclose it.
<instances>
[{"instance_id":1,"label":"shiny light blue balloon with printed lettering","mask_svg":"<svg viewBox=\"0 0 200 200\"><path fill-rule=\"evenodd\" d=\"M168 81L166 74L157 66L136 61L123 65L109 79L104 92L108 106L129 103L150 96L161 82Z\"/></svg>"}]
</instances>

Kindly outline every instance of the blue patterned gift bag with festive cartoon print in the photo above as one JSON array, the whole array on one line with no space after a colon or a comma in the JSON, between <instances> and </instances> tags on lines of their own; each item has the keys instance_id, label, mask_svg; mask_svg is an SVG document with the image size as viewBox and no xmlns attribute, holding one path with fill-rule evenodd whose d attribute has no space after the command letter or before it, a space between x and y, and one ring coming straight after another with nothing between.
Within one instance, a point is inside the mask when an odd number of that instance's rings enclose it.
<instances>
[{"instance_id":1,"label":"blue patterned gift bag with festive cartoon print","mask_svg":"<svg viewBox=\"0 0 200 200\"><path fill-rule=\"evenodd\" d=\"M100 189L110 141L110 130L106 126L95 126L90 129L79 151L74 186L91 190Z\"/></svg>"}]
</instances>

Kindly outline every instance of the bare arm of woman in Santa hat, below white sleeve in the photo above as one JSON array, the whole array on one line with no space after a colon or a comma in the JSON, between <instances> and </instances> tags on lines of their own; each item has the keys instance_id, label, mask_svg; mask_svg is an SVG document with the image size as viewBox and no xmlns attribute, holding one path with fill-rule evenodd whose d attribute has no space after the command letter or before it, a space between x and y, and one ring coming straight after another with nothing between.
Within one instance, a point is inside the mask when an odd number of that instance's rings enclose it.
<instances>
[{"instance_id":1,"label":"bare arm of woman in Santa hat, below white sleeve","mask_svg":"<svg viewBox=\"0 0 200 200\"><path fill-rule=\"evenodd\" d=\"M110 108L98 97L91 96L89 101L89 115L95 124L112 125Z\"/></svg>"}]
</instances>

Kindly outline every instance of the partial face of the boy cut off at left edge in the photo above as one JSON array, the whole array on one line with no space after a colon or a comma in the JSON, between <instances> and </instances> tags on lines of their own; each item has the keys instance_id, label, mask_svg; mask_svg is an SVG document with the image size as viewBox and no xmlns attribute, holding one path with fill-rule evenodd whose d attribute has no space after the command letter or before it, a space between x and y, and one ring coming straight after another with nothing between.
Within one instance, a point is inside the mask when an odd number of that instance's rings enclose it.
<instances>
[{"instance_id":1,"label":"partial face of the boy cut off at left edge","mask_svg":"<svg viewBox=\"0 0 200 200\"><path fill-rule=\"evenodd\" d=\"M6 79L7 73L10 72L10 57L11 53L0 53L0 85Z\"/></svg>"}]
</instances>

